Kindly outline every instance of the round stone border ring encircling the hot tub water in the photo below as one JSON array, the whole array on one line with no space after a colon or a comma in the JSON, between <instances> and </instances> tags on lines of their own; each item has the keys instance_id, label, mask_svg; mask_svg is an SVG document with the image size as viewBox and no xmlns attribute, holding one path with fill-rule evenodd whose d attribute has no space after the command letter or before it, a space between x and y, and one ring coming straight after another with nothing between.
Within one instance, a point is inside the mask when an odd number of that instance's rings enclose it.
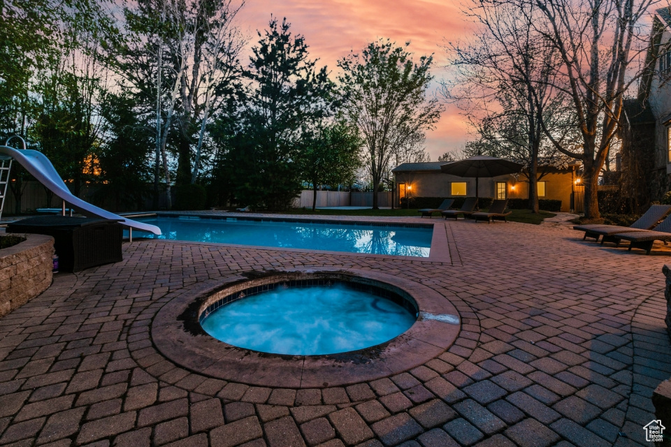
<instances>
[{"instance_id":1,"label":"round stone border ring encircling the hot tub water","mask_svg":"<svg viewBox=\"0 0 671 447\"><path fill-rule=\"evenodd\" d=\"M238 290L271 282L327 277L373 284L409 297L417 303L420 318L389 342L326 356L282 356L241 349L210 337L199 324L205 307ZM460 301L456 295L454 298ZM166 302L153 318L151 337L157 350L172 362L215 379L254 386L327 388L382 379L444 353L454 344L461 324L454 324L454 319L449 318L449 323L422 318L423 314L459 317L449 298L428 286L389 274L342 268L253 271L210 280Z\"/></svg>"}]
</instances>

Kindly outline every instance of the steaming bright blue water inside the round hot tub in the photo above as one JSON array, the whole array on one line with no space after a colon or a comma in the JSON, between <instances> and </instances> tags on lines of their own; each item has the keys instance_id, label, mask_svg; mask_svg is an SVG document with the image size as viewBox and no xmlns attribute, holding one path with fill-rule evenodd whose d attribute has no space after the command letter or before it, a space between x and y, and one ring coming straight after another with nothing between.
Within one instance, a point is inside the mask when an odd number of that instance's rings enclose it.
<instances>
[{"instance_id":1,"label":"steaming bright blue water inside the round hot tub","mask_svg":"<svg viewBox=\"0 0 671 447\"><path fill-rule=\"evenodd\" d=\"M216 339L275 354L356 351L405 332L415 316L387 298L342 284L275 288L219 307L201 325Z\"/></svg>"}]
</instances>

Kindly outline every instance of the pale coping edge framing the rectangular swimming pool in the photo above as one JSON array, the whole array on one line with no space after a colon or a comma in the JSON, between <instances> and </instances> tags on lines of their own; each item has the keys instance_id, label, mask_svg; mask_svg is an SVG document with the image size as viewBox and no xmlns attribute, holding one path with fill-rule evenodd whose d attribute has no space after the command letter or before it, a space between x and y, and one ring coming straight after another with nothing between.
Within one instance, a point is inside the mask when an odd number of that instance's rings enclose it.
<instances>
[{"instance_id":1,"label":"pale coping edge framing the rectangular swimming pool","mask_svg":"<svg viewBox=\"0 0 671 447\"><path fill-rule=\"evenodd\" d=\"M257 214L256 216L245 214L240 216L240 214L199 214L199 212L156 212L153 213L157 217L170 217L176 218L180 215L192 216L192 217L201 217L204 219L226 219L226 218L235 218L242 220L277 220L277 221L324 221L324 222L333 222L333 223L360 223L360 224L380 224L380 225L401 225L401 226L431 226L433 225L433 234L431 236L431 249L429 251L428 257L424 256L397 256L389 254L371 254L371 253L357 253L355 251L330 251L330 250L312 250L312 249L297 249L293 247L267 247L265 245L244 245L244 244L230 244L224 242L198 242L198 241L186 241L186 240L168 240L168 239L155 239L155 238L143 238L143 237L134 237L134 240L149 240L154 242L163 242L163 243L179 243L179 244L199 244L199 245L215 245L219 247L237 247L242 249L254 249L254 250L278 250L278 251L291 251L296 253L310 253L310 254L325 254L325 255L345 255L345 256L373 256L374 258L383 258L383 259L400 259L404 261L420 261L420 262L438 262L438 263L450 263L452 264L452 256L450 255L449 241L447 240L447 231L444 221L438 222L427 222L427 223L409 223L406 221L396 220L335 220L329 219L329 217L310 217L310 218L295 218L293 216L289 217L287 215L280 215L280 217L266 217L266 215ZM387 218L385 218L387 219Z\"/></svg>"}]
</instances>

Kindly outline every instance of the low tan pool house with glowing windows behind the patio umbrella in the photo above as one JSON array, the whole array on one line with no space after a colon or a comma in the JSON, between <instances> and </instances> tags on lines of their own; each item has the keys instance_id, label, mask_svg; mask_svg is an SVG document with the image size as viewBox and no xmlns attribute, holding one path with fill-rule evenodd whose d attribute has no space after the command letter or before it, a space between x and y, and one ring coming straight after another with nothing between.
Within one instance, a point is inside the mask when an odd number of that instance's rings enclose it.
<instances>
[{"instance_id":1,"label":"low tan pool house with glowing windows behind the patio umbrella","mask_svg":"<svg viewBox=\"0 0 671 447\"><path fill-rule=\"evenodd\" d=\"M402 163L393 170L396 180L394 206L405 197L475 197L475 178L443 174L440 166L449 162ZM538 198L561 200L561 211L570 212L575 191L577 165L565 169L545 167L538 182ZM523 175L480 177L478 195L493 198L528 198L529 185Z\"/></svg>"}]
</instances>

